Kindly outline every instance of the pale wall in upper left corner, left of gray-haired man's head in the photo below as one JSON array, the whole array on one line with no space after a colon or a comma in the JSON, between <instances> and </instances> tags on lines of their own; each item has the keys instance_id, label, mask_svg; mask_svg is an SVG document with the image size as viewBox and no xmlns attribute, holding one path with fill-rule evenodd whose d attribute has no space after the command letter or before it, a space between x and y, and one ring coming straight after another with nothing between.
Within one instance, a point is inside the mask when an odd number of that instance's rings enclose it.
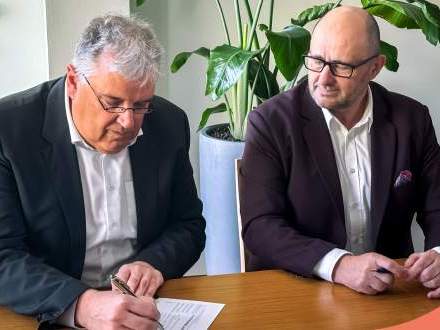
<instances>
[{"instance_id":1,"label":"pale wall in upper left corner, left of gray-haired man's head","mask_svg":"<svg viewBox=\"0 0 440 330\"><path fill-rule=\"evenodd\" d=\"M128 15L128 0L0 1L0 97L65 73L92 17Z\"/></svg>"}]
</instances>

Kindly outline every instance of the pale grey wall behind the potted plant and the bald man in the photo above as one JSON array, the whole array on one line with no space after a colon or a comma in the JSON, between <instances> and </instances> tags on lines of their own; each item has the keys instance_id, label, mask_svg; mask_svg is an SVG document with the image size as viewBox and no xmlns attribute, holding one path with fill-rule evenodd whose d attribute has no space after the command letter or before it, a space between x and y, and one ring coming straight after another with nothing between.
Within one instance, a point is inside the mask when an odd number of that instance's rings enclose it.
<instances>
[{"instance_id":1,"label":"pale grey wall behind the potted plant and the bald man","mask_svg":"<svg viewBox=\"0 0 440 330\"><path fill-rule=\"evenodd\" d=\"M431 0L440 5L439 0ZM274 28L282 29L290 18L296 17L301 10L324 1L277 1L275 5ZM256 1L250 1L255 6ZM348 0L345 4L359 6L360 1ZM233 19L233 1L222 1L227 17ZM224 42L223 29L217 14L215 1L185 0L171 1L147 0L141 8L135 9L140 16L153 23L159 39L166 48L162 84L158 93L167 97L188 114L192 129L191 162L198 182L198 136L196 128L200 114L212 105L204 96L205 60L194 56L177 73L169 72L172 58L181 51L194 50L200 46L214 47ZM382 39L397 46L400 69L397 73L384 70L377 81L390 90L411 96L426 104L430 110L437 134L440 132L440 46L428 44L419 31L400 30L378 19ZM235 32L232 33L235 38ZM224 121L217 117L214 122ZM416 248L422 248L423 235L416 228ZM203 265L202 265L203 266ZM202 267L200 266L200 267ZM203 271L197 268L196 271Z\"/></svg>"}]
</instances>

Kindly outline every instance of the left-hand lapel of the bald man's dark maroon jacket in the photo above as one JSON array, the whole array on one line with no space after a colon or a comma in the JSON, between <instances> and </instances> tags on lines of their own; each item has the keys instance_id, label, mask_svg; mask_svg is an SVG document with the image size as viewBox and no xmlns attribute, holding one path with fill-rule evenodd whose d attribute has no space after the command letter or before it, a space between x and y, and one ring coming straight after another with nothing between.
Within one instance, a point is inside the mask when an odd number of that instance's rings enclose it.
<instances>
[{"instance_id":1,"label":"left-hand lapel of the bald man's dark maroon jacket","mask_svg":"<svg viewBox=\"0 0 440 330\"><path fill-rule=\"evenodd\" d=\"M304 137L329 197L345 227L344 202L330 133L321 109L315 104L308 91L305 93L302 113L308 120L303 130Z\"/></svg>"}]
</instances>

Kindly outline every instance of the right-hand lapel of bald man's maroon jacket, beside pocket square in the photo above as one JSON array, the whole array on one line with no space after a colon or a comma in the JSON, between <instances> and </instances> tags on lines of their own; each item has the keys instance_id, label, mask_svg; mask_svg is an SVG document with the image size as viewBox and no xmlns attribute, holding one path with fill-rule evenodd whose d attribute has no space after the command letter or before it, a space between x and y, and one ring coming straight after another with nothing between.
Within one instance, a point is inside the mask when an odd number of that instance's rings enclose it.
<instances>
[{"instance_id":1,"label":"right-hand lapel of bald man's maroon jacket, beside pocket square","mask_svg":"<svg viewBox=\"0 0 440 330\"><path fill-rule=\"evenodd\" d=\"M387 118L387 106L371 85L373 125L371 126L371 239L376 243L392 188L396 154L396 131Z\"/></svg>"}]
</instances>

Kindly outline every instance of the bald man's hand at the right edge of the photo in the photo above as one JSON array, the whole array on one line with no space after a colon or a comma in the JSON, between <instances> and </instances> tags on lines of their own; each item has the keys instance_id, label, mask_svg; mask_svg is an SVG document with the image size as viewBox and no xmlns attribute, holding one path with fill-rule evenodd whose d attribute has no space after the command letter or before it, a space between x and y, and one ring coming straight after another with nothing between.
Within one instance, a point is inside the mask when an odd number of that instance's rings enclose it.
<instances>
[{"instance_id":1,"label":"bald man's hand at the right edge of the photo","mask_svg":"<svg viewBox=\"0 0 440 330\"><path fill-rule=\"evenodd\" d=\"M432 289L428 298L440 298L440 254L434 250L413 253L406 259L409 279L420 281L425 287Z\"/></svg>"}]
</instances>

